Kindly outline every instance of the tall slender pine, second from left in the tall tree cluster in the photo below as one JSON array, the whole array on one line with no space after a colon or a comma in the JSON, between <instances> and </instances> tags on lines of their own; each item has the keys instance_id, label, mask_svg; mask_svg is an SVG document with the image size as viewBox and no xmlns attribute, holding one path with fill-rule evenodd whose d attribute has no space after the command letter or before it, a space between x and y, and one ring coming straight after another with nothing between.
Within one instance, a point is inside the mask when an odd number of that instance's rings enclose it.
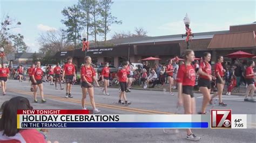
<instances>
[{"instance_id":1,"label":"tall slender pine, second from left in the tall tree cluster","mask_svg":"<svg viewBox=\"0 0 256 143\"><path fill-rule=\"evenodd\" d=\"M92 12L92 0L79 0L79 9L81 11L80 24L86 27L86 39L89 39L89 30L91 28L91 12Z\"/></svg>"}]
</instances>

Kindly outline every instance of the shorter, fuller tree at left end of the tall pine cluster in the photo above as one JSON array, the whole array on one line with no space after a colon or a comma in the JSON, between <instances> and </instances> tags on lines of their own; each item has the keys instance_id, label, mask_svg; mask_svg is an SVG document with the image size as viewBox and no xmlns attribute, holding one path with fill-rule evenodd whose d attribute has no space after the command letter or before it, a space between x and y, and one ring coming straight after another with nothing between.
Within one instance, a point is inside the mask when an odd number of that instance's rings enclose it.
<instances>
[{"instance_id":1,"label":"shorter, fuller tree at left end of the tall pine cluster","mask_svg":"<svg viewBox=\"0 0 256 143\"><path fill-rule=\"evenodd\" d=\"M79 25L81 15L79 6L69 6L68 8L62 10L62 14L65 17L65 20L61 20L61 22L68 27L66 30L66 32L68 32L68 39L73 40L76 48L76 42L78 40L78 43L80 43L79 39L81 38L79 31L83 30L82 25Z\"/></svg>"}]
</instances>

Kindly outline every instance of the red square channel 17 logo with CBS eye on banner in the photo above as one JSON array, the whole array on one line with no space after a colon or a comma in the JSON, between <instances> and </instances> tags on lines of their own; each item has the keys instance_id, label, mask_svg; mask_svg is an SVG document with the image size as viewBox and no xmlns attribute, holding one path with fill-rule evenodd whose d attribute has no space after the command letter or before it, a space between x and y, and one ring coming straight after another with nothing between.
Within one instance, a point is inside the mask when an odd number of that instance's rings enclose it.
<instances>
[{"instance_id":1,"label":"red square channel 17 logo with CBS eye on banner","mask_svg":"<svg viewBox=\"0 0 256 143\"><path fill-rule=\"evenodd\" d=\"M231 110L211 110L211 128L231 128Z\"/></svg>"}]
</instances>

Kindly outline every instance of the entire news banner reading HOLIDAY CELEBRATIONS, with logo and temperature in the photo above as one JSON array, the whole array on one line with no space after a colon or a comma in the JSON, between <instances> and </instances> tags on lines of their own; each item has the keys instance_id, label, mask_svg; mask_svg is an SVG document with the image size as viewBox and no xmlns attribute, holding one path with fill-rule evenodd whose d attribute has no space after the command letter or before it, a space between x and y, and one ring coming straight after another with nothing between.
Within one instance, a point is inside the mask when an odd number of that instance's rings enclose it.
<instances>
[{"instance_id":1,"label":"entire news banner reading HOLIDAY CELEBRATIONS, with logo and temperature","mask_svg":"<svg viewBox=\"0 0 256 143\"><path fill-rule=\"evenodd\" d=\"M18 110L17 128L253 128L255 115L93 115L90 110Z\"/></svg>"}]
</instances>

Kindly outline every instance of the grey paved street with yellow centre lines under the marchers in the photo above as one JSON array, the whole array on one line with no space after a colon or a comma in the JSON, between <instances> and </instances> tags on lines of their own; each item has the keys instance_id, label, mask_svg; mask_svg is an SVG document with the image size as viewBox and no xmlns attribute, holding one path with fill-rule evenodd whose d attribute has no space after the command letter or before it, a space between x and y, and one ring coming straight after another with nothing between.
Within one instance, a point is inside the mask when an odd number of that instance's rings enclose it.
<instances>
[{"instance_id":1,"label":"grey paved street with yellow centre lines under the marchers","mask_svg":"<svg viewBox=\"0 0 256 143\"><path fill-rule=\"evenodd\" d=\"M64 85L65 86L65 85ZM95 88L96 106L101 114L167 114L176 111L176 96L168 92L132 90L127 93L127 98L132 104L129 107L119 106L112 102L118 101L118 89L110 88L110 96L104 96L100 88ZM24 96L28 98L34 109L82 109L80 98L82 91L79 85L73 86L74 98L64 98L65 90L55 90L55 86L44 83L44 94L47 102L33 103L32 92L27 81L19 83L17 80L8 81L8 92L6 96L0 96L0 104L15 97ZM214 106L214 109L232 109L234 114L255 114L256 103L243 102L243 96L224 96L227 107ZM38 101L40 97L38 96ZM86 106L91 109L89 97ZM197 111L200 111L202 97L196 94ZM218 104L218 101L217 101ZM210 110L211 106L208 106ZM183 111L180 110L179 113ZM256 124L255 124L256 125ZM256 126L255 126L256 128ZM171 130L172 131L172 130ZM201 142L255 142L255 129L195 129L195 134L202 139ZM50 129L48 140L59 142L187 142L185 130L179 133L166 134L162 129Z\"/></svg>"}]
</instances>

